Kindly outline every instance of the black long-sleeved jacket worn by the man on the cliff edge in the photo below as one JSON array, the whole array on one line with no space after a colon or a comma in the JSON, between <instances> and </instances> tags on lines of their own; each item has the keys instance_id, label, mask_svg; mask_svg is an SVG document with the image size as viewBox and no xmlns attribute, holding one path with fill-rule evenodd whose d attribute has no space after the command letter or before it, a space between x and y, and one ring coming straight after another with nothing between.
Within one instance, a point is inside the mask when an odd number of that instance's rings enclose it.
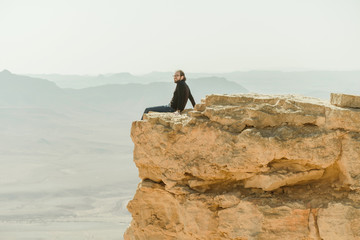
<instances>
[{"instance_id":1,"label":"black long-sleeved jacket worn by the man on the cliff edge","mask_svg":"<svg viewBox=\"0 0 360 240\"><path fill-rule=\"evenodd\" d=\"M191 95L189 86L185 83L185 80L177 82L173 98L171 99L170 107L172 107L175 111L182 111L184 110L188 99L190 99L191 104L194 107L195 101Z\"/></svg>"}]
</instances>

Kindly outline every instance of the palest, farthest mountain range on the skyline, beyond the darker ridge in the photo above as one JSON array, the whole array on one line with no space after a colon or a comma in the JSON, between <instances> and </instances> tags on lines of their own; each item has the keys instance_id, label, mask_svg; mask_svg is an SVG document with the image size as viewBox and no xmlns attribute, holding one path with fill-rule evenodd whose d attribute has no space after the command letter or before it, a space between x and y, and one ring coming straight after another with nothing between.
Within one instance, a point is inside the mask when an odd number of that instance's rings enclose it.
<instances>
[{"instance_id":1,"label":"palest, farthest mountain range on the skyline, beyond the darker ridge","mask_svg":"<svg viewBox=\"0 0 360 240\"><path fill-rule=\"evenodd\" d=\"M141 76L134 76L130 73L99 76L32 76L54 81L60 87L86 88L106 84L171 82L172 75L172 72L151 72ZM230 73L186 73L186 76L189 82L199 78L223 78L238 83L250 92L266 94L294 93L323 99L329 99L330 92L360 94L360 71L237 71ZM203 85L203 88L206 88L206 85Z\"/></svg>"}]
</instances>

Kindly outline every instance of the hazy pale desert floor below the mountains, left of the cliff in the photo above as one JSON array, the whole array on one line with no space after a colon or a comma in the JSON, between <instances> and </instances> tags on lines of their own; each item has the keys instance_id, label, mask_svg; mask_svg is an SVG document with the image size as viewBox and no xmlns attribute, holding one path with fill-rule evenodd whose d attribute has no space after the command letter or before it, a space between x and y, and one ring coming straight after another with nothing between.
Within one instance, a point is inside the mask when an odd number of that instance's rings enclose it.
<instances>
[{"instance_id":1,"label":"hazy pale desert floor below the mountains, left of the cliff","mask_svg":"<svg viewBox=\"0 0 360 240\"><path fill-rule=\"evenodd\" d=\"M0 108L0 239L123 239L138 179L130 120Z\"/></svg>"}]
</instances>

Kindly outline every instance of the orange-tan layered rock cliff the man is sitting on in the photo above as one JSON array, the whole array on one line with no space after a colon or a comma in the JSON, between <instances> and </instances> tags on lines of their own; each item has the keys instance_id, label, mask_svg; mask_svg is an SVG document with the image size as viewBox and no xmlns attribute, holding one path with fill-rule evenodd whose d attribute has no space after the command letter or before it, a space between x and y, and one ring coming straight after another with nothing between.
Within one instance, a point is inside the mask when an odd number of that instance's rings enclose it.
<instances>
[{"instance_id":1,"label":"orange-tan layered rock cliff the man is sitting on","mask_svg":"<svg viewBox=\"0 0 360 240\"><path fill-rule=\"evenodd\" d=\"M125 239L360 239L360 110L211 95L133 122Z\"/></svg>"}]
</instances>

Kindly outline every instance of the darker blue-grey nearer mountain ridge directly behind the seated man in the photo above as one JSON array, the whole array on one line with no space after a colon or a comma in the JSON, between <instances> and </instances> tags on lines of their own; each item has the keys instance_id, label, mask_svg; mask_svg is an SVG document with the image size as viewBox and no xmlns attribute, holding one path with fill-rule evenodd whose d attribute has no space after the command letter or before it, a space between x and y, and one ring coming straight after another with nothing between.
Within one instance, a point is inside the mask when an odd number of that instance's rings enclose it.
<instances>
[{"instance_id":1,"label":"darker blue-grey nearer mountain ridge directly behind the seated man","mask_svg":"<svg viewBox=\"0 0 360 240\"><path fill-rule=\"evenodd\" d=\"M187 83L196 102L207 94L248 92L241 85L219 77L189 79ZM167 81L66 89L45 79L3 71L0 73L0 104L138 112L147 106L168 104L175 87L173 82Z\"/></svg>"}]
</instances>

